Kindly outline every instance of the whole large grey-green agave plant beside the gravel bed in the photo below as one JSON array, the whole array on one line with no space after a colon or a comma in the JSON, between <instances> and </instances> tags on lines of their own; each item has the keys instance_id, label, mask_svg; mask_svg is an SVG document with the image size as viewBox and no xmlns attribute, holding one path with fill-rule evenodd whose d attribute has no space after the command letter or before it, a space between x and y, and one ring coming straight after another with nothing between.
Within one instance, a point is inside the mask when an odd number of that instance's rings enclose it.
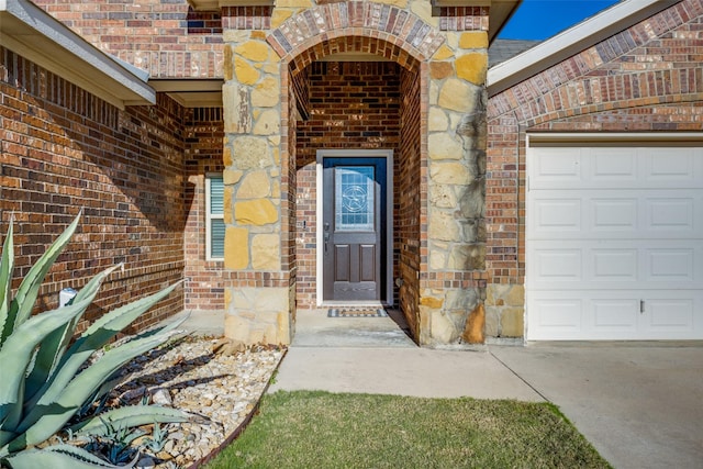
<instances>
[{"instance_id":1,"label":"whole large grey-green agave plant beside the gravel bed","mask_svg":"<svg viewBox=\"0 0 703 469\"><path fill-rule=\"evenodd\" d=\"M68 244L79 219L80 214L30 269L14 298L11 298L12 223L8 228L0 258L0 466L9 465L13 469L114 467L71 445L42 449L36 445L62 431L86 404L108 393L113 384L110 380L122 365L167 340L180 324L175 322L137 335L96 359L96 350L103 348L178 284L102 315L75 337L81 315L92 303L102 281L119 265L92 278L70 304L32 315L40 286ZM177 410L134 405L90 416L74 424L71 429L90 434L102 431L105 423L114 427L133 427L186 420L187 415Z\"/></svg>"}]
</instances>

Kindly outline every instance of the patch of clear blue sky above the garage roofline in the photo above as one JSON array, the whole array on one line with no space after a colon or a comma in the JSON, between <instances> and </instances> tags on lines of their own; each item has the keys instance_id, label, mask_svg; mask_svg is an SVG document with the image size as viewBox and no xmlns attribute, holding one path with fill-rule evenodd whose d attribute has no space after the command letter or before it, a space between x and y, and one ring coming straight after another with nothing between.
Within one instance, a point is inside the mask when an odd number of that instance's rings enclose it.
<instances>
[{"instance_id":1,"label":"patch of clear blue sky above the garage roofline","mask_svg":"<svg viewBox=\"0 0 703 469\"><path fill-rule=\"evenodd\" d=\"M614 3L617 0L523 0L499 37L546 40Z\"/></svg>"}]
</instances>

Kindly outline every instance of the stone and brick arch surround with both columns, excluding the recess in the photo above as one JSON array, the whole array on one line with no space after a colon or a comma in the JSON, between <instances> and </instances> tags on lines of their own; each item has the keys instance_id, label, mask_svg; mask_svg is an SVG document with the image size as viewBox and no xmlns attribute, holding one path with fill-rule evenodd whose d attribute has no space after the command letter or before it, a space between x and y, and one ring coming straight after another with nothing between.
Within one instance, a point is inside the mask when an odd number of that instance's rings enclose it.
<instances>
[{"instance_id":1,"label":"stone and brick arch surround with both columns, excluding the recess","mask_svg":"<svg viewBox=\"0 0 703 469\"><path fill-rule=\"evenodd\" d=\"M326 55L355 52L421 78L420 180L428 196L420 209L419 342L482 340L488 12L461 7L433 15L425 0L223 9L228 337L290 340L291 76Z\"/></svg>"}]
</instances>

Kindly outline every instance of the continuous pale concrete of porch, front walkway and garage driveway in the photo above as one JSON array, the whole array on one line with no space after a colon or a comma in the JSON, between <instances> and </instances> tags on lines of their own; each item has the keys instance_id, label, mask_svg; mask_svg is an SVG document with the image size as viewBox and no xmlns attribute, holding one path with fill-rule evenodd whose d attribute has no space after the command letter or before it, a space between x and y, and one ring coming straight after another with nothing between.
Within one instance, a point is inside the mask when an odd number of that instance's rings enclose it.
<instances>
[{"instance_id":1,"label":"continuous pale concrete of porch, front walkway and garage driveway","mask_svg":"<svg viewBox=\"0 0 703 469\"><path fill-rule=\"evenodd\" d=\"M297 327L269 392L548 400L615 468L703 468L703 344L434 350L388 319L299 312Z\"/></svg>"}]
</instances>

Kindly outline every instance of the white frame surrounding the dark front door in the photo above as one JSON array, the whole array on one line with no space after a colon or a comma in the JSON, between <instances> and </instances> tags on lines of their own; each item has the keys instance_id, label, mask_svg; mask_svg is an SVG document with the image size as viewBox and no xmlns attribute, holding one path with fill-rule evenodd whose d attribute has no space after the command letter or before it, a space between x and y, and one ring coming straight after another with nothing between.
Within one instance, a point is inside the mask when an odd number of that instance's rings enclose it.
<instances>
[{"instance_id":1,"label":"white frame surrounding the dark front door","mask_svg":"<svg viewBox=\"0 0 703 469\"><path fill-rule=\"evenodd\" d=\"M323 300L323 249L319 247L323 245L323 160L325 158L386 158L386 301L383 304L393 304L393 150L383 149L328 149L321 148L316 154L316 304L323 306L325 304L338 304L339 302ZM342 303L349 303L348 301ZM354 304L369 304L369 302L358 302ZM373 303L377 304L377 303Z\"/></svg>"}]
</instances>

